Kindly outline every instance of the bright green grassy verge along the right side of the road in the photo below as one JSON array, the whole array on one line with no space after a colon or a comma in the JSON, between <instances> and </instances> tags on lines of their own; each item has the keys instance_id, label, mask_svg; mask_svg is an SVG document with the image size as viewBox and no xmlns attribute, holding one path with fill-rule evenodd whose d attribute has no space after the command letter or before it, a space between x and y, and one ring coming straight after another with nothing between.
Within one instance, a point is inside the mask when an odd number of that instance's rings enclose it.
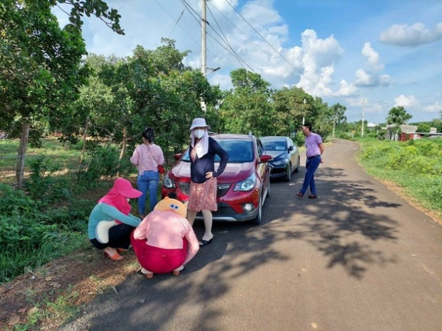
<instances>
[{"instance_id":1,"label":"bright green grassy verge along the right side of the road","mask_svg":"<svg viewBox=\"0 0 442 331\"><path fill-rule=\"evenodd\" d=\"M398 185L412 202L442 219L442 139L359 143L358 161L368 174Z\"/></svg>"}]
</instances>

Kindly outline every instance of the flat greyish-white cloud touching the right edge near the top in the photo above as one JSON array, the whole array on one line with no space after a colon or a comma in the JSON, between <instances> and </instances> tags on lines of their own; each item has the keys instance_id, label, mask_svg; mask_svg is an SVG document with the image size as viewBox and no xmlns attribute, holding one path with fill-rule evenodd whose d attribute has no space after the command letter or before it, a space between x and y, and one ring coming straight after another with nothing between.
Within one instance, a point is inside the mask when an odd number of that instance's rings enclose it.
<instances>
[{"instance_id":1,"label":"flat greyish-white cloud touching the right edge near the top","mask_svg":"<svg viewBox=\"0 0 442 331\"><path fill-rule=\"evenodd\" d=\"M427 29L423 23L394 24L386 31L382 31L379 40L382 43L399 46L417 46L432 43L442 39L442 22L433 29Z\"/></svg>"}]
</instances>

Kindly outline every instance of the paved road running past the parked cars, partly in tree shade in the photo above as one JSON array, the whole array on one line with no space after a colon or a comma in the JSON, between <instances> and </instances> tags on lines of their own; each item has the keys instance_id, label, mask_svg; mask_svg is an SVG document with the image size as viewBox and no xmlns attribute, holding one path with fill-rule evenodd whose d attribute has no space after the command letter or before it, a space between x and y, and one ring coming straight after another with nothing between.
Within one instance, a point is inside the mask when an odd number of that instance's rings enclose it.
<instances>
[{"instance_id":1,"label":"paved road running past the parked cars, partly in tree shade","mask_svg":"<svg viewBox=\"0 0 442 331\"><path fill-rule=\"evenodd\" d=\"M441 331L442 226L366 175L357 148L326 146L319 199L295 196L302 166L272 183L264 225L217 223L180 276L133 274L60 330Z\"/></svg>"}]
</instances>

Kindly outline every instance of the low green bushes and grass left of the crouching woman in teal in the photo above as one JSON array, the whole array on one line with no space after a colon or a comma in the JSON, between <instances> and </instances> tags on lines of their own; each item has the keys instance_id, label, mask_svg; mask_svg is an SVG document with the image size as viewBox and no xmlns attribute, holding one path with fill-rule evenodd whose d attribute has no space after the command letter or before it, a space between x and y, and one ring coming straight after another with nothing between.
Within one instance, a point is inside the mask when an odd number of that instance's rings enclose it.
<instances>
[{"instance_id":1,"label":"low green bushes and grass left of the crouching woman in teal","mask_svg":"<svg viewBox=\"0 0 442 331\"><path fill-rule=\"evenodd\" d=\"M0 184L0 283L87 244L86 220L93 205L79 200L50 208Z\"/></svg>"}]
</instances>

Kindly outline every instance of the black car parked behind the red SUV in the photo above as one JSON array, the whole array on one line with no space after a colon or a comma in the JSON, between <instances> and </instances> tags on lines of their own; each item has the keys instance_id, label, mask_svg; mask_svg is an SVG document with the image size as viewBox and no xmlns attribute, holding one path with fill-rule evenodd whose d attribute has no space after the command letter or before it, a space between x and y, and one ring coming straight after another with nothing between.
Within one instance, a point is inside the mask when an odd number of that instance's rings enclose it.
<instances>
[{"instance_id":1,"label":"black car parked behind the red SUV","mask_svg":"<svg viewBox=\"0 0 442 331\"><path fill-rule=\"evenodd\" d=\"M271 178L292 179L292 173L300 170L300 151L288 136L262 136L265 153L272 155Z\"/></svg>"}]
</instances>

